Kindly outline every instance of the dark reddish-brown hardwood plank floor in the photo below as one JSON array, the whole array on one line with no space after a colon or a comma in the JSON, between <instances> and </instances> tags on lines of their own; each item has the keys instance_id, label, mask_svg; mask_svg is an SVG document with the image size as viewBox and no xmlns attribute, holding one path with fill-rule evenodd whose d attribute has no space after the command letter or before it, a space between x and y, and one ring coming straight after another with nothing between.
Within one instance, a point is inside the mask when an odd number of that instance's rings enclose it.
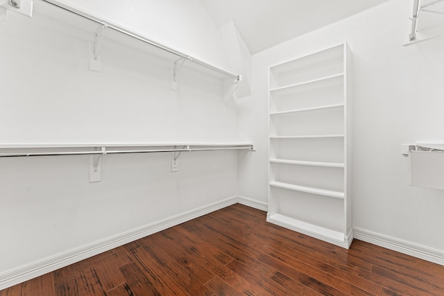
<instances>
[{"instance_id":1,"label":"dark reddish-brown hardwood plank floor","mask_svg":"<svg viewBox=\"0 0 444 296\"><path fill-rule=\"evenodd\" d=\"M444 295L444 266L350 250L234 204L0 291L10 295Z\"/></svg>"}]
</instances>

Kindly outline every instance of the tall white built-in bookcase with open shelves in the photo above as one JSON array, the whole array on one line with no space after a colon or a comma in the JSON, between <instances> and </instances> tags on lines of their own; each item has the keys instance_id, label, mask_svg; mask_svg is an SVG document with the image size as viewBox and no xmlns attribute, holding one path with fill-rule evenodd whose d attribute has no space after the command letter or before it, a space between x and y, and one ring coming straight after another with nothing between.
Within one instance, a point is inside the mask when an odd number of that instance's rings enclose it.
<instances>
[{"instance_id":1,"label":"tall white built-in bookcase with open shelves","mask_svg":"<svg viewBox=\"0 0 444 296\"><path fill-rule=\"evenodd\" d=\"M343 43L269 69L268 222L352 242L351 52Z\"/></svg>"}]
</instances>

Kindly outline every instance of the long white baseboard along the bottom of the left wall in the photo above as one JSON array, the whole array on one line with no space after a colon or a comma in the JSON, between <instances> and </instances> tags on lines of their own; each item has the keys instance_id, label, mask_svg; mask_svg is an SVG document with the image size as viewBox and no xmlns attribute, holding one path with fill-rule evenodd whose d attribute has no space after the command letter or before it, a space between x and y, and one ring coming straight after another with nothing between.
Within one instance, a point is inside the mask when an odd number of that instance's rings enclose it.
<instances>
[{"instance_id":1,"label":"long white baseboard along the bottom of the left wall","mask_svg":"<svg viewBox=\"0 0 444 296\"><path fill-rule=\"evenodd\" d=\"M48 272L58 270L59 268L63 268L72 263L87 259L96 254L112 250L114 249L114 247L125 245L126 243L136 241L139 238L144 238L145 236L148 236L150 234L154 234L169 227L179 225L180 223L184 223L194 218L210 214L213 211L217 211L219 209L223 209L224 207L228 207L232 204L237 203L238 199L239 198L237 196L227 198L225 200L221 200L220 202L208 204L205 207L186 211L185 213L178 214L176 216L172 216L170 218L157 221L155 223L144 225L142 227L137 227L128 232L123 232L122 234L110 236L101 241L96 241L88 245L83 245L67 252L62 252L60 254L47 257L45 259L20 266L19 268L7 270L6 272L2 272L0 274L0 290L22 283L24 281L27 281L28 279L39 277L40 275L44 275Z\"/></svg>"}]
</instances>

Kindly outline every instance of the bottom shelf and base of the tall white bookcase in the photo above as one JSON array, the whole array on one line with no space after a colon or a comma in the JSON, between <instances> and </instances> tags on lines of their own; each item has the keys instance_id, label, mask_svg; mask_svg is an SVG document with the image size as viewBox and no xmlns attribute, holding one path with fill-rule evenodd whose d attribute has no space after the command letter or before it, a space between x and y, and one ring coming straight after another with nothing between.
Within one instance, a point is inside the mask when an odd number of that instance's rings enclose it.
<instances>
[{"instance_id":1,"label":"bottom shelf and base of the tall white bookcase","mask_svg":"<svg viewBox=\"0 0 444 296\"><path fill-rule=\"evenodd\" d=\"M291 218L282 214L267 216L266 220L269 223L273 223L275 225L279 225L302 234L307 234L309 236L314 236L315 238L319 238L323 241L328 241L329 243L348 248L348 243L345 242L345 235L337 230L307 223L305 221Z\"/></svg>"}]
</instances>

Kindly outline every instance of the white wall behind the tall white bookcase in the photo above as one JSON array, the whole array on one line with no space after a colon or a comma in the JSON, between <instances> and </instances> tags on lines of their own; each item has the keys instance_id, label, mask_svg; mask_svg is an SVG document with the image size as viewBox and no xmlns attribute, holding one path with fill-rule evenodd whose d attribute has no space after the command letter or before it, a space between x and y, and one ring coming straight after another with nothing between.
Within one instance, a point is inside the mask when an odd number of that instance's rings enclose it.
<instances>
[{"instance_id":1,"label":"white wall behind the tall white bookcase","mask_svg":"<svg viewBox=\"0 0 444 296\"><path fill-rule=\"evenodd\" d=\"M253 95L239 133L257 152L239 170L240 195L267 200L268 67L348 42L353 52L353 224L444 252L444 192L408 184L402 143L444 141L444 40L402 46L412 1L393 0L253 55Z\"/></svg>"}]
</instances>

